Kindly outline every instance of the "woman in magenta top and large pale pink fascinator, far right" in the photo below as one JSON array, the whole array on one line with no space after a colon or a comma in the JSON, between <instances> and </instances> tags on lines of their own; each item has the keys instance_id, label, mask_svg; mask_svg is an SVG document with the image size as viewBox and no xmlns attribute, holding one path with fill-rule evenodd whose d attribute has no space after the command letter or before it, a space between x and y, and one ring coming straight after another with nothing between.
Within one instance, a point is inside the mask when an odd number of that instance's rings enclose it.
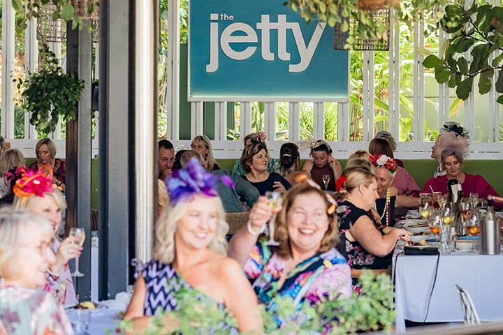
<instances>
[{"instance_id":1,"label":"woman in magenta top and large pale pink fascinator, far right","mask_svg":"<svg viewBox=\"0 0 503 335\"><path fill-rule=\"evenodd\" d=\"M423 193L435 192L448 193L447 181L458 179L461 184L462 192L465 195L469 193L478 193L479 198L487 199L488 195L497 197L497 192L480 174L473 175L462 172L465 159L469 157L469 143L466 137L456 133L444 133L438 137L436 144L442 148L441 168L446 174L437 178L431 178L426 181Z\"/></svg>"}]
</instances>

